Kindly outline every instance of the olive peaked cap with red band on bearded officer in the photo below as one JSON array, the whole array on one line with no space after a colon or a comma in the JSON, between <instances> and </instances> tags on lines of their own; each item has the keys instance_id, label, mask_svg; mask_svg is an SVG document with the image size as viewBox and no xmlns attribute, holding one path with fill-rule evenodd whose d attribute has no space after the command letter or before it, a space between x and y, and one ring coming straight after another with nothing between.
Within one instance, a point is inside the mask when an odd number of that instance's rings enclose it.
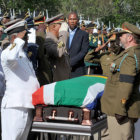
<instances>
[{"instance_id":1,"label":"olive peaked cap with red band on bearded officer","mask_svg":"<svg viewBox=\"0 0 140 140\"><path fill-rule=\"evenodd\" d=\"M133 34L135 34L135 35L138 35L138 36L140 36L140 29L137 27L137 26L135 26L135 25L133 25L133 24L131 24L131 23L128 23L128 22L124 22L123 24L122 24L122 30L120 31L120 32L118 32L119 34L123 34L123 33L133 33Z\"/></svg>"}]
</instances>

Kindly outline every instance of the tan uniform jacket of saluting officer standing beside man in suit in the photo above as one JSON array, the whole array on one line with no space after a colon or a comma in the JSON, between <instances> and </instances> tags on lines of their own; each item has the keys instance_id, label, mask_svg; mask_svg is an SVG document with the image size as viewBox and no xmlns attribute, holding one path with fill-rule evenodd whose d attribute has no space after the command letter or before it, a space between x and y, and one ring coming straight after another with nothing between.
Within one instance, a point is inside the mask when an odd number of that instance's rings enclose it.
<instances>
[{"instance_id":1,"label":"tan uniform jacket of saluting officer standing beside man in suit","mask_svg":"<svg viewBox=\"0 0 140 140\"><path fill-rule=\"evenodd\" d=\"M64 44L48 32L44 46L52 67L53 81L69 79L70 64Z\"/></svg>"}]
</instances>

